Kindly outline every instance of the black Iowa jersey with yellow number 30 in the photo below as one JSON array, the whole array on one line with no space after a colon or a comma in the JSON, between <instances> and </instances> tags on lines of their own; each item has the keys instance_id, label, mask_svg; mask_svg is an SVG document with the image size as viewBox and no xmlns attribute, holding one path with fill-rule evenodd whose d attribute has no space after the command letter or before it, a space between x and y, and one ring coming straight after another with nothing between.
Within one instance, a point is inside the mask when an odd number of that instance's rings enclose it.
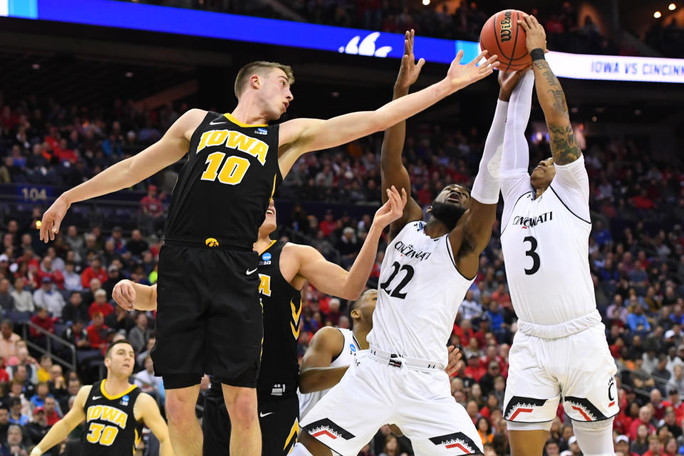
<instances>
[{"instance_id":1,"label":"black Iowa jersey with yellow number 30","mask_svg":"<svg viewBox=\"0 0 684 456\"><path fill-rule=\"evenodd\" d=\"M142 438L142 423L135 420L133 406L140 388L131 385L115 396L108 395L105 380L93 384L83 410L86 427L81 436L81 456L135 454Z\"/></svg>"}]
</instances>

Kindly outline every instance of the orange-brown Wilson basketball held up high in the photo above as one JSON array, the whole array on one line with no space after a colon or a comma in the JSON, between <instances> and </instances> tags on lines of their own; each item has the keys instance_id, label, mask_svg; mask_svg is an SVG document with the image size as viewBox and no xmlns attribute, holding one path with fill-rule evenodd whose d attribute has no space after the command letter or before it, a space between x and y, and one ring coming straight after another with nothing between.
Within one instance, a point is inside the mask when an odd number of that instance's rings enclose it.
<instances>
[{"instance_id":1,"label":"orange-brown Wilson basketball held up high","mask_svg":"<svg viewBox=\"0 0 684 456\"><path fill-rule=\"evenodd\" d=\"M524 29L518 25L526 13L517 9L504 9L487 19L480 32L480 46L490 56L499 56L499 70L522 70L532 63L525 46Z\"/></svg>"}]
</instances>

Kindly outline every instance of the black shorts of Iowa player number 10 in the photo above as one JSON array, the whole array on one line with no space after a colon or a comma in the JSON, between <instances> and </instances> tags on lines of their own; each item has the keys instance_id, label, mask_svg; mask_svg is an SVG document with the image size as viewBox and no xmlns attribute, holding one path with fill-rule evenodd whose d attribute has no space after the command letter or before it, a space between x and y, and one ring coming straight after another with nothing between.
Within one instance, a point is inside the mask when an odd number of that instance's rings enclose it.
<instances>
[{"instance_id":1,"label":"black shorts of Iowa player number 10","mask_svg":"<svg viewBox=\"0 0 684 456\"><path fill-rule=\"evenodd\" d=\"M205 373L254 388L263 316L257 252L165 243L159 254L155 374L166 388Z\"/></svg>"}]
</instances>

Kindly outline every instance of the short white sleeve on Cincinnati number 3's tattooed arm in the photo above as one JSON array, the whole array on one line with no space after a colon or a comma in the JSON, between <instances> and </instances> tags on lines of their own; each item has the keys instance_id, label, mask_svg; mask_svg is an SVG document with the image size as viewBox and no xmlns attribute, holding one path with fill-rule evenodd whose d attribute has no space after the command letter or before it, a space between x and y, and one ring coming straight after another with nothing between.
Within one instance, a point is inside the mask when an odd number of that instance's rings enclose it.
<instances>
[{"instance_id":1,"label":"short white sleeve on Cincinnati number 3's tattooed arm","mask_svg":"<svg viewBox=\"0 0 684 456\"><path fill-rule=\"evenodd\" d=\"M567 165L554 166L556 177L551 181L551 189L573 214L589 223L589 175L584 155Z\"/></svg>"}]
</instances>

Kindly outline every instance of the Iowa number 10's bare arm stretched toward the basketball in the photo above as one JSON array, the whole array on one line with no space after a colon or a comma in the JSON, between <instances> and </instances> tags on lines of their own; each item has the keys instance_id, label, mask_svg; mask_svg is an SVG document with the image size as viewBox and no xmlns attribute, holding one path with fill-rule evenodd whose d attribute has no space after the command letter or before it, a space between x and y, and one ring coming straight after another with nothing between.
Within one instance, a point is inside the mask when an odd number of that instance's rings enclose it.
<instances>
[{"instance_id":1,"label":"Iowa number 10's bare arm stretched toward the basketball","mask_svg":"<svg viewBox=\"0 0 684 456\"><path fill-rule=\"evenodd\" d=\"M374 111L360 111L340 115L328 120L294 119L280 127L279 163L285 175L302 154L323 150L362 138L410 118L412 115L455 93L475 81L488 76L498 65L497 56L477 66L486 51L467 65L461 65L463 52L459 51L451 63L446 78L419 92L406 95Z\"/></svg>"}]
</instances>

